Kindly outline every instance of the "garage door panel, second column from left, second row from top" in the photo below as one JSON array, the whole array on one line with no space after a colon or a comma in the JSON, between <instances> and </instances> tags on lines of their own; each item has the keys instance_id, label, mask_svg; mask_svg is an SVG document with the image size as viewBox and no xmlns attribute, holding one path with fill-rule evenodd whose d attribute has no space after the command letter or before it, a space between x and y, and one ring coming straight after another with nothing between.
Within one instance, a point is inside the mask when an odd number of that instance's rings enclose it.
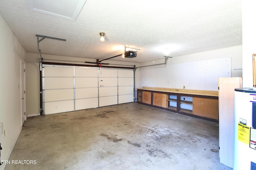
<instances>
[{"instance_id":1,"label":"garage door panel, second column from left, second row from top","mask_svg":"<svg viewBox=\"0 0 256 170\"><path fill-rule=\"evenodd\" d=\"M75 86L76 88L84 88L84 87L98 87L98 78L75 78Z\"/></svg>"}]
</instances>

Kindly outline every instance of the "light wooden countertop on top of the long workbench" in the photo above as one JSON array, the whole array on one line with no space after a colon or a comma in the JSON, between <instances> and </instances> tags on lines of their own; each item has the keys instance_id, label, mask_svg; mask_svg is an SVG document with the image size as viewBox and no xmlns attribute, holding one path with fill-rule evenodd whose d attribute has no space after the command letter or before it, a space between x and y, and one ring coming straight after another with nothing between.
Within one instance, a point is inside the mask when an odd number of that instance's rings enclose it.
<instances>
[{"instance_id":1,"label":"light wooden countertop on top of the long workbench","mask_svg":"<svg viewBox=\"0 0 256 170\"><path fill-rule=\"evenodd\" d=\"M146 87L136 88L137 90L150 90L157 92L169 92L169 93L179 93L179 94L192 94L200 96L214 96L218 97L218 91L209 91L209 90L189 90L189 89L178 89L178 88L159 88L159 87Z\"/></svg>"}]
</instances>

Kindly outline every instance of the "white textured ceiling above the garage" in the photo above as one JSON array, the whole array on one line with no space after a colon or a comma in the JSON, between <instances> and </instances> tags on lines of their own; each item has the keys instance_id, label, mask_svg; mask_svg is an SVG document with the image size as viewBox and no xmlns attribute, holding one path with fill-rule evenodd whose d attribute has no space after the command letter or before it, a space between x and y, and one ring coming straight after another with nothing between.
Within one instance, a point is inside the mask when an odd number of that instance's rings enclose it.
<instances>
[{"instance_id":1,"label":"white textured ceiling above the garage","mask_svg":"<svg viewBox=\"0 0 256 170\"><path fill-rule=\"evenodd\" d=\"M42 54L106 59L129 46L136 58L111 60L136 63L242 45L241 0L86 0L75 21L0 0L0 14L28 53L38 53L36 34L66 39L44 39Z\"/></svg>"}]
</instances>

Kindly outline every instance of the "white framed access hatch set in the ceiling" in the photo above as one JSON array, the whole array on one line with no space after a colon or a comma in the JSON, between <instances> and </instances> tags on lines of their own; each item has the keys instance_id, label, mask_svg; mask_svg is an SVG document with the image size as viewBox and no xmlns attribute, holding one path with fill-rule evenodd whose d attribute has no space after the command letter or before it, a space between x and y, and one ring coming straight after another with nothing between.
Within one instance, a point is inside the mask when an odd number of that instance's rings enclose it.
<instances>
[{"instance_id":1,"label":"white framed access hatch set in the ceiling","mask_svg":"<svg viewBox=\"0 0 256 170\"><path fill-rule=\"evenodd\" d=\"M29 9L69 20L76 20L86 0L28 0Z\"/></svg>"}]
</instances>

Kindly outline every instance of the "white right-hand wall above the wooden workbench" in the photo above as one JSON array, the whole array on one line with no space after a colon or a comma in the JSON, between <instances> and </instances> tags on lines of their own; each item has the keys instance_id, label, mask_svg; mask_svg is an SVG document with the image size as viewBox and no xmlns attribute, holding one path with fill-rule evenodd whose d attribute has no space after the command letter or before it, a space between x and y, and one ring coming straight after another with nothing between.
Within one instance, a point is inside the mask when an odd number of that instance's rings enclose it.
<instances>
[{"instance_id":1,"label":"white right-hand wall above the wooden workbench","mask_svg":"<svg viewBox=\"0 0 256 170\"><path fill-rule=\"evenodd\" d=\"M159 63L164 63L164 59L141 65ZM185 86L186 89L218 91L219 77L242 76L242 46L173 57L167 60L166 65L144 67L138 72L140 87Z\"/></svg>"}]
</instances>

